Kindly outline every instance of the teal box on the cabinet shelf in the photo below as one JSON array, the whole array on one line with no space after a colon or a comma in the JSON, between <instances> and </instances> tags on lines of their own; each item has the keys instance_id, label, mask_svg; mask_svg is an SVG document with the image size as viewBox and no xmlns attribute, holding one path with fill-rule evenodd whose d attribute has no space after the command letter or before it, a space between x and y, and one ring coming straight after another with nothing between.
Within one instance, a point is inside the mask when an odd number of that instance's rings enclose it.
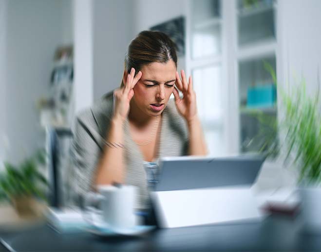
<instances>
[{"instance_id":1,"label":"teal box on the cabinet shelf","mask_svg":"<svg viewBox=\"0 0 321 252\"><path fill-rule=\"evenodd\" d=\"M272 107L276 102L275 84L251 86L247 89L247 107Z\"/></svg>"}]
</instances>

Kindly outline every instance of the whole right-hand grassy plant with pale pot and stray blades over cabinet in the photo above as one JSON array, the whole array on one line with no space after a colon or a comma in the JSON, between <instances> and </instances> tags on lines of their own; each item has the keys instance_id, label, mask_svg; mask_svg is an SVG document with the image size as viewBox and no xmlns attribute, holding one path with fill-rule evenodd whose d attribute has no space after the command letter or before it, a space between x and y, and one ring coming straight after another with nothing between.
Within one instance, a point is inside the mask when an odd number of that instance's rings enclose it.
<instances>
[{"instance_id":1,"label":"whole right-hand grassy plant with pale pot and stray blades over cabinet","mask_svg":"<svg viewBox=\"0 0 321 252\"><path fill-rule=\"evenodd\" d=\"M272 67L265 64L265 68L277 83ZM272 159L280 157L280 150L286 151L284 162L290 160L298 169L297 189L301 198L305 226L308 229L321 230L320 94L318 89L314 96L309 96L305 87L305 81L302 79L298 86L293 86L288 92L279 88L282 99L280 113L282 118L279 122L273 122L273 127L270 129L278 132L280 137L274 137L274 139L267 137L264 143L261 143L261 147L264 148L260 151ZM283 140L281 141L280 138ZM270 147L266 148L267 145Z\"/></svg>"}]
</instances>

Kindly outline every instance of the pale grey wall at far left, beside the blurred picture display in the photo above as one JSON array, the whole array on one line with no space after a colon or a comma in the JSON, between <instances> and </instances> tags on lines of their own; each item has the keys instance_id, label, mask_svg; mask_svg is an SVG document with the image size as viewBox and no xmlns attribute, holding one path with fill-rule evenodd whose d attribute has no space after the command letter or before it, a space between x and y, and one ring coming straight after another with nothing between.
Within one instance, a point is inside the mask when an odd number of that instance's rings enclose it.
<instances>
[{"instance_id":1,"label":"pale grey wall at far left, beside the blurred picture display","mask_svg":"<svg viewBox=\"0 0 321 252\"><path fill-rule=\"evenodd\" d=\"M63 32L71 30L65 8L70 1L7 1L6 159L14 163L44 146L35 102L48 91L56 47L72 37Z\"/></svg>"}]
</instances>

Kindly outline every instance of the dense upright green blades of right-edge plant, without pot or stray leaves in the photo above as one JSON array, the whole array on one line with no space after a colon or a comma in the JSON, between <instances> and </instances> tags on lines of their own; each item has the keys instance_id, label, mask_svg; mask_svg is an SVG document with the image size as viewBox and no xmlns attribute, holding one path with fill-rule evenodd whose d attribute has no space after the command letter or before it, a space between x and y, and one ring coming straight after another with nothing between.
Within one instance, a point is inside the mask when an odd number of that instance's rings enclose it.
<instances>
[{"instance_id":1,"label":"dense upright green blades of right-edge plant, without pot or stray leaves","mask_svg":"<svg viewBox=\"0 0 321 252\"><path fill-rule=\"evenodd\" d=\"M295 153L294 163L300 166L299 182L321 182L321 114L319 89L314 97L305 91L303 80L292 95L283 93L285 105L287 155Z\"/></svg>"}]
</instances>

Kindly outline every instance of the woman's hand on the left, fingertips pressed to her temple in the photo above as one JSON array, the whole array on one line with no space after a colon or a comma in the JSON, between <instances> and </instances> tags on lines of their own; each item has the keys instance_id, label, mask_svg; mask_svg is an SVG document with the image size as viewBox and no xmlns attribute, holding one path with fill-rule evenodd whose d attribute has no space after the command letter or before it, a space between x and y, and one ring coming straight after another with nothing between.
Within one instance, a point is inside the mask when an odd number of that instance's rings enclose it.
<instances>
[{"instance_id":1,"label":"woman's hand on the left, fingertips pressed to her temple","mask_svg":"<svg viewBox=\"0 0 321 252\"><path fill-rule=\"evenodd\" d=\"M117 88L113 91L113 97L115 100L115 107L113 111L113 118L124 121L129 113L130 101L134 95L133 87L142 77L142 72L139 71L135 75L135 69L132 67L131 72L127 75L126 84L122 88Z\"/></svg>"}]
</instances>

